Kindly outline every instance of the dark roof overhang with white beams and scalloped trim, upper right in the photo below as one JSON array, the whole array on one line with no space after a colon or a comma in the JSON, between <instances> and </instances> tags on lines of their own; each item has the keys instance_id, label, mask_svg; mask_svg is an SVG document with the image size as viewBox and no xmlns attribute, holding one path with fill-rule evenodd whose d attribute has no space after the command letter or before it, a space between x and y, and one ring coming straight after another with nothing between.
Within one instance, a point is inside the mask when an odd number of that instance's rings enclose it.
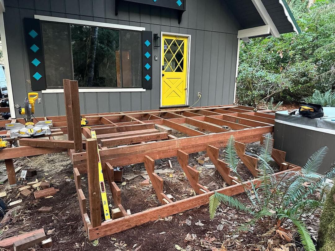
<instances>
[{"instance_id":1,"label":"dark roof overhang with white beams and scalloped trim, upper right","mask_svg":"<svg viewBox=\"0 0 335 251\"><path fill-rule=\"evenodd\" d=\"M241 25L238 38L249 38L295 32L300 28L285 0L224 0Z\"/></svg>"}]
</instances>

